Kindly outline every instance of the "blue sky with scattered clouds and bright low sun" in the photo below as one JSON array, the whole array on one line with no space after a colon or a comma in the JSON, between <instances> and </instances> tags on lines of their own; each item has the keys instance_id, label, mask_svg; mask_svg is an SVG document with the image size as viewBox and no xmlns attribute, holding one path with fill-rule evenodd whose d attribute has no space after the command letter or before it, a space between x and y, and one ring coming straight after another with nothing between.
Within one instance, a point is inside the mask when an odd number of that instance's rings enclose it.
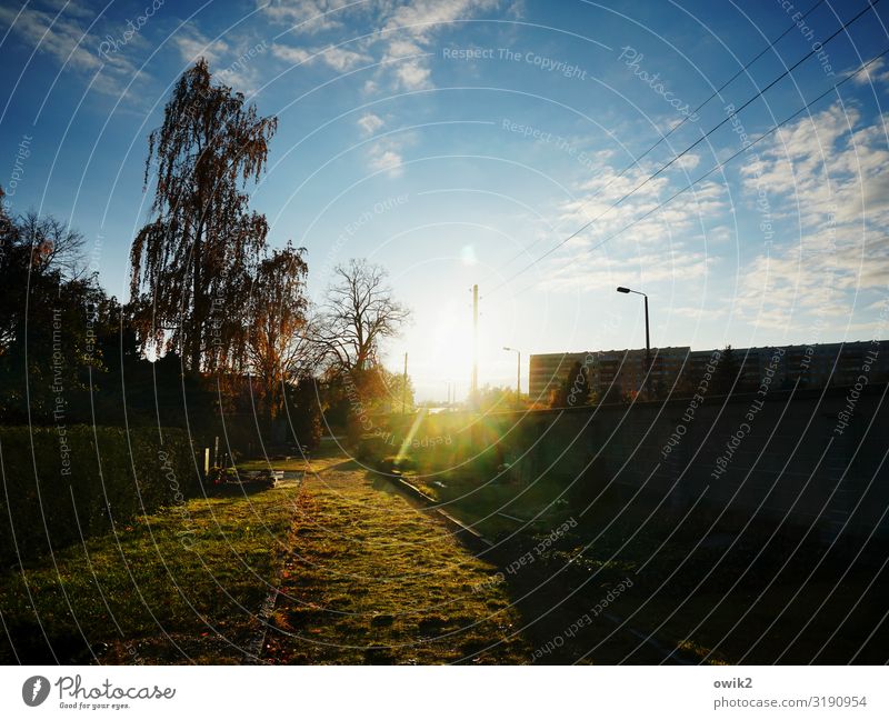
<instances>
[{"instance_id":1,"label":"blue sky with scattered clouds and bright low sun","mask_svg":"<svg viewBox=\"0 0 889 720\"><path fill-rule=\"evenodd\" d=\"M653 347L886 339L889 54L861 68L889 3L867 8L2 0L0 186L126 299L147 136L203 57L278 117L248 188L270 244L307 249L317 303L337 263L387 268L412 319L386 363L408 353L419 399L469 389L476 283L482 384L515 383L505 346L525 390L531 353L645 347L617 286Z\"/></svg>"}]
</instances>

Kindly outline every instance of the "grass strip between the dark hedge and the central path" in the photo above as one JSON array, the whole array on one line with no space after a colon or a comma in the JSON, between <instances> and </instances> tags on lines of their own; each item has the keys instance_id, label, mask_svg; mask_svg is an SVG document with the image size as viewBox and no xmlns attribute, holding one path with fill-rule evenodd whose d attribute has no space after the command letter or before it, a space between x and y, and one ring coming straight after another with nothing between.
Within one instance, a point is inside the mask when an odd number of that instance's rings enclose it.
<instances>
[{"instance_id":1,"label":"grass strip between the dark hedge and the central path","mask_svg":"<svg viewBox=\"0 0 889 720\"><path fill-rule=\"evenodd\" d=\"M0 660L241 661L289 547L297 492L230 488L57 552L54 566L7 571Z\"/></svg>"}]
</instances>

